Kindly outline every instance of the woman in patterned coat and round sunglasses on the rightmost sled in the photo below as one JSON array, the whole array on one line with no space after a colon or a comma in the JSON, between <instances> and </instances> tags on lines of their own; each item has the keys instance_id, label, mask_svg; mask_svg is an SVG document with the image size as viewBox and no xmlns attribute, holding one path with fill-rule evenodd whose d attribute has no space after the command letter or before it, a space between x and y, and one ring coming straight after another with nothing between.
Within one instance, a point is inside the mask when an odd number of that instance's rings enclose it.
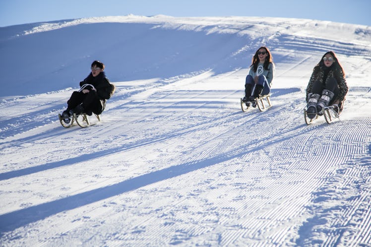
<instances>
[{"instance_id":1,"label":"woman in patterned coat and round sunglasses on the rightmost sled","mask_svg":"<svg viewBox=\"0 0 371 247\"><path fill-rule=\"evenodd\" d=\"M307 116L310 119L329 105L336 105L338 113L343 110L348 86L343 67L334 52L326 52L314 67L307 86Z\"/></svg>"}]
</instances>

